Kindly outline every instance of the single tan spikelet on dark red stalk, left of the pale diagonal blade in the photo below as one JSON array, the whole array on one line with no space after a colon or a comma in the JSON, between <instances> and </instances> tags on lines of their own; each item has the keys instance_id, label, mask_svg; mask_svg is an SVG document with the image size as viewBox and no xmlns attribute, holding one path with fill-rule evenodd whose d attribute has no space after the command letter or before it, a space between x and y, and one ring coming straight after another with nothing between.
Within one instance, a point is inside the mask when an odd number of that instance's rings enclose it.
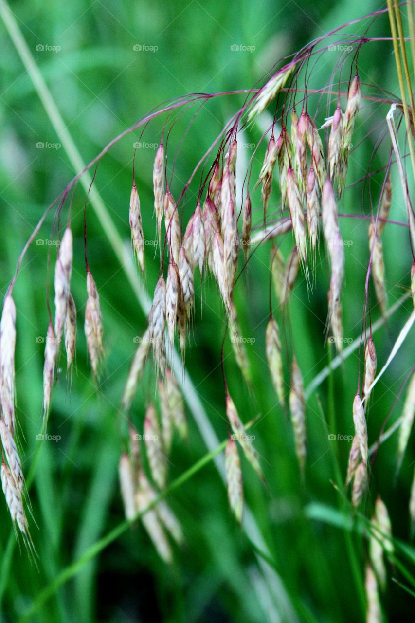
<instances>
[{"instance_id":1,"label":"single tan spikelet on dark red stalk, left of the pale diagonal blade","mask_svg":"<svg viewBox=\"0 0 415 623\"><path fill-rule=\"evenodd\" d=\"M103 359L103 328L100 297L97 285L90 270L87 270L87 305L85 306L85 336L93 375L98 376L100 361Z\"/></svg>"}]
</instances>

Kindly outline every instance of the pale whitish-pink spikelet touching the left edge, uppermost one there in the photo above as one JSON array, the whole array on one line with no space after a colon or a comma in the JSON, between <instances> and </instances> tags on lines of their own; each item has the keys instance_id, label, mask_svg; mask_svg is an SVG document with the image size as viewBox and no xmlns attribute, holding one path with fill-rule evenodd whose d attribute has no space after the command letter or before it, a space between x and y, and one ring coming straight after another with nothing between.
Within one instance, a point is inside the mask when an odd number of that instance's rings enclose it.
<instances>
[{"instance_id":1,"label":"pale whitish-pink spikelet touching the left edge, uppermost one there","mask_svg":"<svg viewBox=\"0 0 415 623\"><path fill-rule=\"evenodd\" d=\"M14 351L16 349L16 305L11 294L3 303L0 322L0 397L1 410L7 427L14 434Z\"/></svg>"}]
</instances>

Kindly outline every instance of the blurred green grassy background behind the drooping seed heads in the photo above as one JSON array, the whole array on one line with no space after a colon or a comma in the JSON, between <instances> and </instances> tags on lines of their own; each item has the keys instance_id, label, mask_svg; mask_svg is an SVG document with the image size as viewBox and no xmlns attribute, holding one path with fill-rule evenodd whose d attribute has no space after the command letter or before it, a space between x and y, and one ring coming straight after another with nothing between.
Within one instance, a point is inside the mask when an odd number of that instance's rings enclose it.
<instances>
[{"instance_id":1,"label":"blurred green grassy background behind the drooping seed heads","mask_svg":"<svg viewBox=\"0 0 415 623\"><path fill-rule=\"evenodd\" d=\"M171 3L72 0L61 3L51 0L45 3L32 0L14 2L11 6L34 62L85 163L114 136L161 102L193 92L250 88L280 57L292 54L308 41L340 26L345 19L355 19L363 11L378 8L371 0L364 5L355 0L318 3L262 0L225 3L214 0ZM368 22L358 24L346 32L362 34L367 25ZM70 163L3 22L0 22L0 32L0 287L4 294L21 249L37 221L79 171ZM388 34L388 21L381 17L371 29L371 35ZM134 49L137 45L141 50ZM251 52L232 50L234 45L254 46L255 49ZM360 54L359 70L363 83L380 85L398 93L391 50L388 44L365 46ZM334 52L323 55L313 70L309 86L328 85L337 60ZM343 80L348 79L349 72L350 61L346 61ZM374 87L368 86L367 90L379 95ZM242 95L233 95L217 98L203 107L178 152L172 184L175 196L242 102ZM335 98L330 102L332 105L328 109L333 110ZM320 125L327 103L327 98L320 103ZM343 98L343 106L344 103ZM318 99L310 98L312 115L317 105ZM169 138L169 171L194 112L195 107L178 117L174 125ZM353 153L349 183L367 173L374 144L386 128L387 112L387 105L362 105L353 142L358 145L372 128L374 134ZM136 153L143 226L148 239L155 238L151 181L155 150L152 145L160 141L164 121L165 118L159 118L150 123L142 139L143 146ZM263 130L254 125L241 141L256 145ZM130 248L128 200L133 143L139 140L140 130L117 143L102 159L96 178L96 188L126 249ZM372 170L384 166L388 160L388 140L384 143L371 164ZM254 159L256 173L264 149L260 147ZM246 165L251 156L249 147L239 152L239 159ZM393 180L394 186L398 186L398 178L393 177ZM198 182L196 175L186 199L184 222L194 209ZM382 178L378 176L370 184L375 204L381 183ZM366 184L363 192L362 189L363 185L358 184L345 193L341 212L370 214L369 185ZM278 192L275 188L274 196L278 196ZM397 195L391 215L404 220L399 192ZM260 219L259 191L254 197L255 215ZM12 545L11 521L1 501L1 621L17 621L62 569L123 520L117 478L121 452L117 420L123 384L136 346L134 338L142 335L146 318L102 224L88 205L88 257L101 297L107 354L105 374L97 388L87 363L82 331L86 296L84 201L85 193L78 185L72 201L71 221L75 254L72 291L79 310L77 366L70 386L65 379L65 361L62 361L63 369L54 390L49 433L60 436L57 442L41 444L36 440L42 425L42 340L48 321L45 297L49 249L52 249L52 267L55 259L52 214L27 253L14 289L18 310L17 414L21 424L24 472L29 472L34 456L39 459L31 489L33 515L39 528L32 521L39 570L29 563L24 549L19 553L19 548ZM65 206L62 213L61 226L66 222L68 208ZM389 304L398 300L409 285L411 258L409 250L401 252L401 249L408 249L408 237L402 229L391 226L384 232ZM361 331L368 262L367 226L360 220L343 219L341 231L343 239L353 241L346 249L343 308L345 336L354 339ZM282 246L285 257L291 245L289 236ZM242 420L248 421L258 413L263 416L252 433L262 457L267 487L257 481L244 459L242 469L246 500L268 550L268 558L265 560L255 552L246 531L236 525L231 515L226 488L216 470L216 462L222 461L219 456L168 498L185 535L183 548L174 551L173 568L167 568L160 561L140 523L82 566L75 578L54 591L49 601L31 616L31 621L363 621L361 591L367 541L356 534L349 506L330 483L336 480L336 460L340 462L343 477L350 444L328 440L328 432L343 435L353 432L351 404L357 386L358 353L350 356L330 381L325 381L318 389L322 410L315 393L307 402L308 463L302 485L292 429L280 408L275 407L265 363L269 252L267 245L260 248L236 288L242 331L251 338L247 350L254 376L254 396L250 396L244 386L229 341L225 343L227 381ZM151 295L159 267L158 259L153 258L153 247L146 249L146 264L143 288ZM196 285L196 315L189 336L186 368L217 437L223 440L227 434L220 369L224 313L211 278L203 287L200 282ZM323 260L317 270L315 290L308 293L301 276L293 293L292 347L305 386L328 363L324 335L327 288L328 272ZM49 297L52 302L52 295ZM374 300L374 295L372 298ZM386 361L410 310L411 304L406 302L376 333L374 341L379 363ZM280 320L278 310L275 315ZM373 320L378 317L379 310L373 303ZM409 336L374 392L369 414L370 442L376 440L413 365L413 347L413 337ZM288 382L288 368L285 374ZM138 429L142 427L145 404L153 396L153 382L149 369L134 403L133 417ZM403 396L398 400L391 422L401 413ZM330 429L325 423L325 419L329 420L330 409L335 416L335 430L332 420ZM171 480L206 453L203 435L189 410L188 419L188 443L176 442L173 447ZM39 444L41 452L36 455ZM373 467L371 493L365 502L365 511L370 516L379 492L391 514L394 534L404 541L408 541L407 508L414 459L412 447L398 482L394 483L396 437L384 444ZM250 517L246 520L252 535L252 521ZM345 521L349 520L348 529L345 529ZM411 597L390 580L382 600L388 620L411 620Z\"/></svg>"}]
</instances>

